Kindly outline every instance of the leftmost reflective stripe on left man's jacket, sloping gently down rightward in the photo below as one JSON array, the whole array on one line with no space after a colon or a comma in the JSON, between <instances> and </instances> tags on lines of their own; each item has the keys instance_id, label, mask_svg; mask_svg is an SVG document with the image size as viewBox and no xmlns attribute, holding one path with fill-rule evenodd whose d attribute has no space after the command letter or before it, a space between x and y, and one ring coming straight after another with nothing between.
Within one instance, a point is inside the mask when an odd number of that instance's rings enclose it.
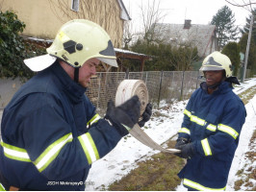
<instances>
[{"instance_id":1,"label":"leftmost reflective stripe on left man's jacket, sloping gently down rightward","mask_svg":"<svg viewBox=\"0 0 256 192\"><path fill-rule=\"evenodd\" d=\"M14 160L31 162L30 157L25 149L4 143L3 140L1 140L1 146L4 148L5 156Z\"/></svg>"}]
</instances>

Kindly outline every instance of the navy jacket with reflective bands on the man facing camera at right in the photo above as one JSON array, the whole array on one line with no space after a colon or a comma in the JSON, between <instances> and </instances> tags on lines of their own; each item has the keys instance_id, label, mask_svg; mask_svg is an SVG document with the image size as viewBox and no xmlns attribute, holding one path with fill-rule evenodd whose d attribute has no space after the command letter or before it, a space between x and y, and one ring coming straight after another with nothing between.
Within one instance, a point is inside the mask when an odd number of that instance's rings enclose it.
<instances>
[{"instance_id":1,"label":"navy jacket with reflective bands on the man facing camera at right","mask_svg":"<svg viewBox=\"0 0 256 192\"><path fill-rule=\"evenodd\" d=\"M195 156L179 173L184 185L196 190L224 190L238 147L246 111L228 82L213 94L205 83L192 93L179 137L191 139Z\"/></svg>"}]
</instances>

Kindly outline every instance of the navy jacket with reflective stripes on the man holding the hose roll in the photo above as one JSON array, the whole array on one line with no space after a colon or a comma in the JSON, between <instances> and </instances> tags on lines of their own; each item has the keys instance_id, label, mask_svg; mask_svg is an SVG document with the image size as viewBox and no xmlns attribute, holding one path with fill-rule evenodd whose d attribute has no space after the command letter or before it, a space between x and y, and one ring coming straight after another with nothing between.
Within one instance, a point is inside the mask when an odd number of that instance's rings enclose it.
<instances>
[{"instance_id":1,"label":"navy jacket with reflective stripes on the man holding the hose roll","mask_svg":"<svg viewBox=\"0 0 256 192\"><path fill-rule=\"evenodd\" d=\"M15 93L1 123L0 173L10 185L85 190L91 163L121 139L85 91L55 63Z\"/></svg>"}]
</instances>

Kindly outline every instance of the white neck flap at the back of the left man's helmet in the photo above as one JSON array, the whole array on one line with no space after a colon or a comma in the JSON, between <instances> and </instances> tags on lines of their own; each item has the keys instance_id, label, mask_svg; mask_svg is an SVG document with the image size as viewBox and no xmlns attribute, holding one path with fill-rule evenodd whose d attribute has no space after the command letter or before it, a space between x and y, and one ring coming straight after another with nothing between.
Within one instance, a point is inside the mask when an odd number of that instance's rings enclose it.
<instances>
[{"instance_id":1,"label":"white neck flap at the back of the left man's helmet","mask_svg":"<svg viewBox=\"0 0 256 192\"><path fill-rule=\"evenodd\" d=\"M57 58L50 56L49 54L38 56L35 58L24 60L24 63L35 72L42 71L51 66Z\"/></svg>"}]
</instances>

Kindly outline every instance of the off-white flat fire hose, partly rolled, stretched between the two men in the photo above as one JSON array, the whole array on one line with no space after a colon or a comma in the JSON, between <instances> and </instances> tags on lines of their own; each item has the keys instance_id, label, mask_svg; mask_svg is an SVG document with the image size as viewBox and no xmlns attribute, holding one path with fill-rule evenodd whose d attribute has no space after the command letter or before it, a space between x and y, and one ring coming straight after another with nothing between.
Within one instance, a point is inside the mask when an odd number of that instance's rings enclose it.
<instances>
[{"instance_id":1,"label":"off-white flat fire hose, partly rolled, stretched between the two men","mask_svg":"<svg viewBox=\"0 0 256 192\"><path fill-rule=\"evenodd\" d=\"M141 80L124 80L122 81L116 90L115 93L115 106L123 104L125 101L130 99L132 96L138 95L141 102L141 114L148 104L148 91L146 85ZM165 149L161 145L157 144L150 136L141 130L141 127L136 124L133 129L129 132L137 140L147 147L159 150L165 153L179 153L180 150L176 149Z\"/></svg>"}]
</instances>

